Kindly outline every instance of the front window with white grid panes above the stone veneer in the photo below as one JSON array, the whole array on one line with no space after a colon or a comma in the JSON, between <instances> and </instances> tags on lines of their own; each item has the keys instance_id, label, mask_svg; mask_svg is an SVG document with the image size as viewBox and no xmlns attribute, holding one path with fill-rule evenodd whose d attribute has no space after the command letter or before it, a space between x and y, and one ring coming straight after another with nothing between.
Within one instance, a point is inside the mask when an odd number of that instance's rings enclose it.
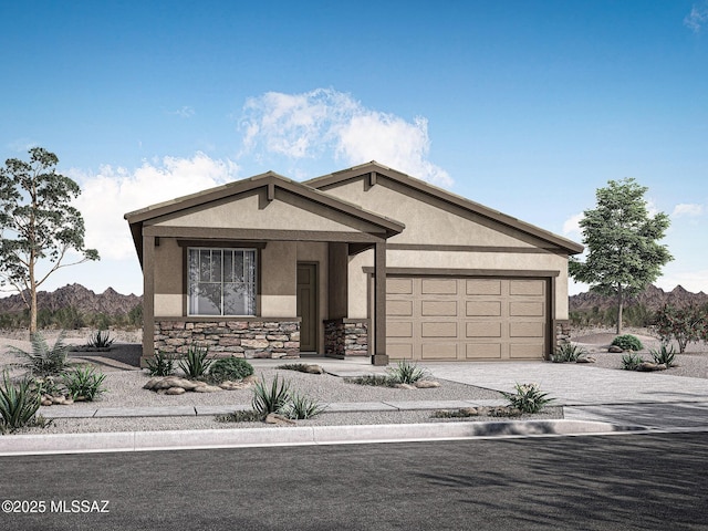
<instances>
[{"instance_id":1,"label":"front window with white grid panes above the stone veneer","mask_svg":"<svg viewBox=\"0 0 708 531\"><path fill-rule=\"evenodd\" d=\"M254 249L188 249L189 315L256 315Z\"/></svg>"}]
</instances>

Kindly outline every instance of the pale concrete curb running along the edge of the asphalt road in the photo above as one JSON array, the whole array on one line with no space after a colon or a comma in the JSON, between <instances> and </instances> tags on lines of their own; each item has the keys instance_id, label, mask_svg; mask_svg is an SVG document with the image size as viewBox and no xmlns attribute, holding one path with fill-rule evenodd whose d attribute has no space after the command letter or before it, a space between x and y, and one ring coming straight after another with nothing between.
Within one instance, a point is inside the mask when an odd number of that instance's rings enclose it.
<instances>
[{"instance_id":1,"label":"pale concrete curb running along the edge of the asphalt road","mask_svg":"<svg viewBox=\"0 0 708 531\"><path fill-rule=\"evenodd\" d=\"M560 419L8 435L0 437L0 456L608 435L637 429Z\"/></svg>"}]
</instances>

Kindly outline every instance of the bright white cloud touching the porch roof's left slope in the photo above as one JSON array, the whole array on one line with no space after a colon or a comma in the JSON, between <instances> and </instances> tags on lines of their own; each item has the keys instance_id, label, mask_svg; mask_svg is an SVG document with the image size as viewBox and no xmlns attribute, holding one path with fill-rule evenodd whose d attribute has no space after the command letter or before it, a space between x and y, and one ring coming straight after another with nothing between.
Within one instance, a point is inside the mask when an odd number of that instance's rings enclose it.
<instances>
[{"instance_id":1,"label":"bright white cloud touching the porch roof's left slope","mask_svg":"<svg viewBox=\"0 0 708 531\"><path fill-rule=\"evenodd\" d=\"M135 257L123 215L233 180L237 171L238 166L231 160L215 160L197 153L191 158L146 162L132 171L104 166L98 175L82 175L77 170L66 175L82 188L75 206L86 225L86 247L98 249L104 259L122 260Z\"/></svg>"}]
</instances>

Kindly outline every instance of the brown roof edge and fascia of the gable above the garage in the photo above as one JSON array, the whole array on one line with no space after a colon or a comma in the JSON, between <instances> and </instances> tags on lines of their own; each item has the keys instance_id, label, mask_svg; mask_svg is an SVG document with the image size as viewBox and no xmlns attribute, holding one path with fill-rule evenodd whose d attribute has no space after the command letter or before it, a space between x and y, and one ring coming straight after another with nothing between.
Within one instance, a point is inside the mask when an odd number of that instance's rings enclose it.
<instances>
[{"instance_id":1,"label":"brown roof edge and fascia of the gable above the garage","mask_svg":"<svg viewBox=\"0 0 708 531\"><path fill-rule=\"evenodd\" d=\"M499 210L494 210L492 208L480 205L479 202L467 199L462 196L458 196L450 191L444 190L442 188L438 188L437 186L430 185L424 180L410 177L409 175L406 175L396 169L388 168L377 163L376 160L372 160L371 163L362 164L360 166L354 166L348 169L343 169L341 171L335 171L333 174L323 175L322 177L316 177L314 179L305 180L303 184L317 189L326 189L327 187L339 185L340 183L344 183L350 179L366 176L372 173L376 173L391 180L405 185L409 188L414 188L442 201L469 210L479 216L483 216L499 223L503 223L508 227L514 228L541 240L551 242L554 246L566 250L569 254L580 254L584 250L584 247L580 243L575 243L574 241L563 238L562 236L554 235L553 232L535 227L534 225L527 223L525 221L521 221L518 218L502 214Z\"/></svg>"}]
</instances>

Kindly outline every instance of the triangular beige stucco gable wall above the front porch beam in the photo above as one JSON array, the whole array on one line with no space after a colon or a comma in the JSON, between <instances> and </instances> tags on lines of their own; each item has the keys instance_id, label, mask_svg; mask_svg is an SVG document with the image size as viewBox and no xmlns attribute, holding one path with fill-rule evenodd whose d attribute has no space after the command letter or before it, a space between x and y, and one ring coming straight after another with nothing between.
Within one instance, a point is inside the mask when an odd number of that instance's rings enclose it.
<instances>
[{"instance_id":1,"label":"triangular beige stucco gable wall above the front porch beam","mask_svg":"<svg viewBox=\"0 0 708 531\"><path fill-rule=\"evenodd\" d=\"M158 218L158 227L201 227L351 232L381 230L371 223L327 209L322 205L278 189L268 201L264 189L210 202Z\"/></svg>"}]
</instances>

